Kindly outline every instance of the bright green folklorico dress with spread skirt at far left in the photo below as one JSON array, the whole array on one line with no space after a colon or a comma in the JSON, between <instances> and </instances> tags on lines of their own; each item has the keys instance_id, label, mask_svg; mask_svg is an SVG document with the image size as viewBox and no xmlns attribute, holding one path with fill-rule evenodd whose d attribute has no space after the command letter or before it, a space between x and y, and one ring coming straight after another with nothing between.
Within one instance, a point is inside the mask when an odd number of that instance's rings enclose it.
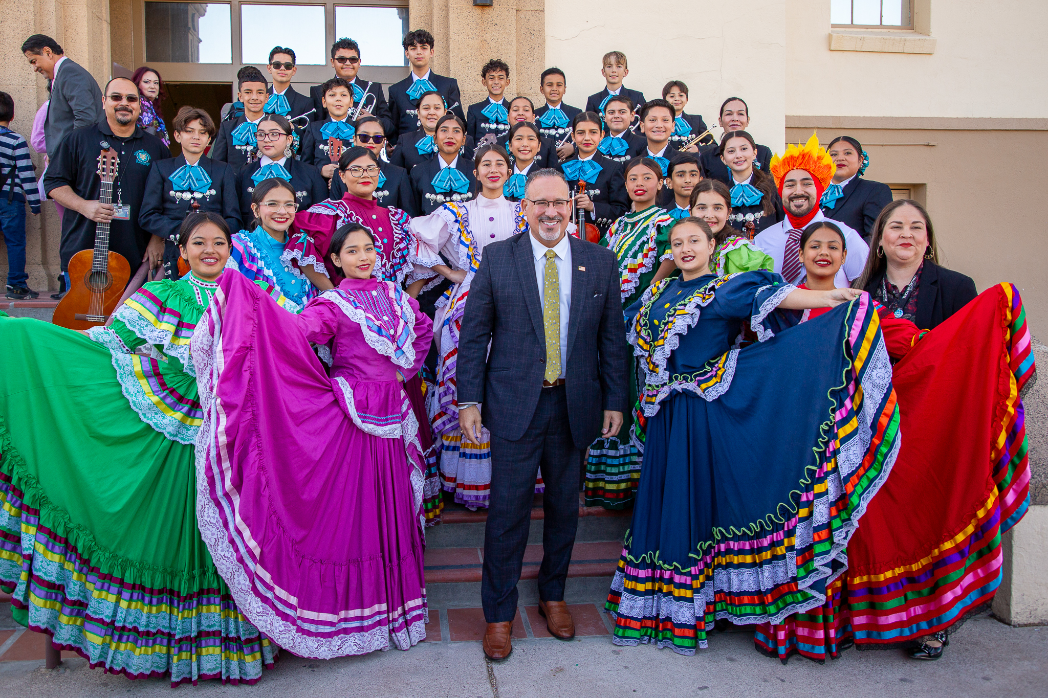
<instances>
[{"instance_id":1,"label":"bright green folklorico dress with spread skirt at far left","mask_svg":"<svg viewBox=\"0 0 1048 698\"><path fill-rule=\"evenodd\" d=\"M147 284L89 337L0 317L0 588L92 668L250 683L277 652L197 531L190 338L216 289Z\"/></svg>"}]
</instances>

